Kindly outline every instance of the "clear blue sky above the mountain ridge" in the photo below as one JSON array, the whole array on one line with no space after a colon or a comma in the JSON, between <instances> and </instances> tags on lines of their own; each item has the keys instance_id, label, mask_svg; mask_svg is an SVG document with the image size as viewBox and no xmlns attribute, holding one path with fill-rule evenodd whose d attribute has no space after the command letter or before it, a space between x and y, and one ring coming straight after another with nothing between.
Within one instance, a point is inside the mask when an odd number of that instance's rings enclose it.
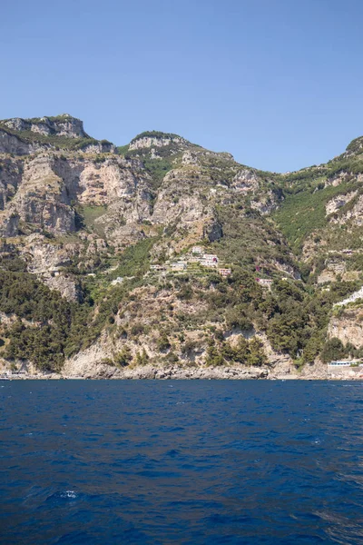
<instances>
[{"instance_id":1,"label":"clear blue sky above the mountain ridge","mask_svg":"<svg viewBox=\"0 0 363 545\"><path fill-rule=\"evenodd\" d=\"M363 134L361 0L3 0L0 118L182 134L285 172Z\"/></svg>"}]
</instances>

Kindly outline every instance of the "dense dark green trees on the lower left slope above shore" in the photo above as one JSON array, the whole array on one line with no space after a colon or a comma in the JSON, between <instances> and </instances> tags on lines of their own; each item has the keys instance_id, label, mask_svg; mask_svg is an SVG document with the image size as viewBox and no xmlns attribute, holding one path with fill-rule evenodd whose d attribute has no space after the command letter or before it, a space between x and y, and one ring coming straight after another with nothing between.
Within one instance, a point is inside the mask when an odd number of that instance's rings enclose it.
<instances>
[{"instance_id":1,"label":"dense dark green trees on the lower left slope above shore","mask_svg":"<svg viewBox=\"0 0 363 545\"><path fill-rule=\"evenodd\" d=\"M59 369L66 353L87 344L87 307L66 302L34 275L0 271L0 311L15 314L3 328L5 357L30 360L43 370ZM94 337L89 337L92 342Z\"/></svg>"}]
</instances>

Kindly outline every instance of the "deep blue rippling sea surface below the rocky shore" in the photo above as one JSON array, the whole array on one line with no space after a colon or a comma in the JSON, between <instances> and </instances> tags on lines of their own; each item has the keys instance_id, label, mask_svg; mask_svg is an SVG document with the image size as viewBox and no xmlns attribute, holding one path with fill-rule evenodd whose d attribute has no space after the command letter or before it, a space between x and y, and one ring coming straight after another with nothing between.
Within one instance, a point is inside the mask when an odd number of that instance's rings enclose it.
<instances>
[{"instance_id":1,"label":"deep blue rippling sea surface below the rocky shore","mask_svg":"<svg viewBox=\"0 0 363 545\"><path fill-rule=\"evenodd\" d=\"M362 544L362 424L358 381L0 381L0 542Z\"/></svg>"}]
</instances>

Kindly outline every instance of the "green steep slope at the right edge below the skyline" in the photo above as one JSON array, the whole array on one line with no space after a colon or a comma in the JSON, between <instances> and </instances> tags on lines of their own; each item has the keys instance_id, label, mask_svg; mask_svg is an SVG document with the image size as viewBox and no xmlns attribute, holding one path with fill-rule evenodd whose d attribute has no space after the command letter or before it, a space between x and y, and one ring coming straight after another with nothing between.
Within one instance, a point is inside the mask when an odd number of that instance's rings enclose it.
<instances>
[{"instance_id":1,"label":"green steep slope at the right edge below the skyline","mask_svg":"<svg viewBox=\"0 0 363 545\"><path fill-rule=\"evenodd\" d=\"M284 201L273 214L295 253L329 282L360 278L363 236L363 154L358 138L319 166L280 178Z\"/></svg>"}]
</instances>

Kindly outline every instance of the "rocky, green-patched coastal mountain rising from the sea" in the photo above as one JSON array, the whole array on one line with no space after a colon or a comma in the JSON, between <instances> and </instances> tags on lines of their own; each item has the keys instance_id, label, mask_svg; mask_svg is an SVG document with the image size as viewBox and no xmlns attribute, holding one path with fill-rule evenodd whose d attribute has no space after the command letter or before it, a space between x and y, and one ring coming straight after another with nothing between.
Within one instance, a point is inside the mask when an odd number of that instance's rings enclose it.
<instances>
[{"instance_id":1,"label":"rocky, green-patched coastal mountain rising from the sea","mask_svg":"<svg viewBox=\"0 0 363 545\"><path fill-rule=\"evenodd\" d=\"M310 376L331 347L359 356L334 305L363 283L362 144L279 174L178 134L1 121L3 367Z\"/></svg>"}]
</instances>

